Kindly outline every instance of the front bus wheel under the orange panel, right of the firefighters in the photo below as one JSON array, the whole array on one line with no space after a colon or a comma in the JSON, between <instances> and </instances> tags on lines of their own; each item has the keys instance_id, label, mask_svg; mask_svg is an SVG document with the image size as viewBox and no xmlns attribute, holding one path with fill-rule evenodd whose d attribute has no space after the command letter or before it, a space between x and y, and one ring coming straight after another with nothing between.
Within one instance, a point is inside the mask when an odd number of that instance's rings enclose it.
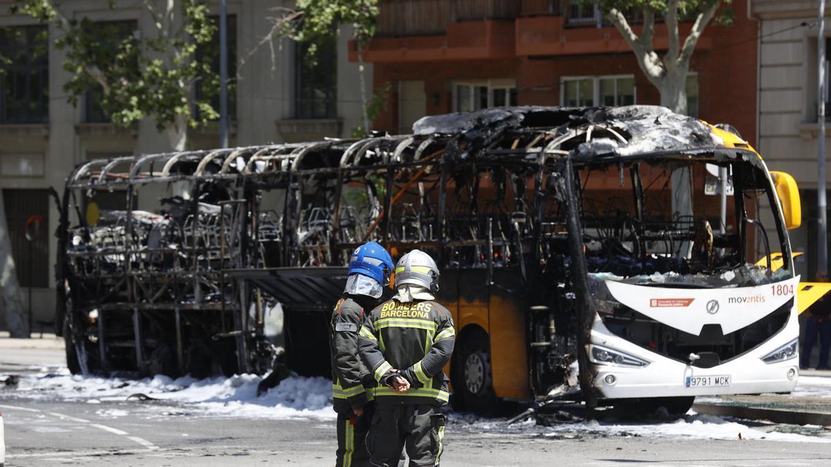
<instances>
[{"instance_id":1,"label":"front bus wheel under the orange panel, right of the firefighters","mask_svg":"<svg viewBox=\"0 0 831 467\"><path fill-rule=\"evenodd\" d=\"M498 399L494 392L487 334L470 333L459 344L453 387L460 394L455 397L454 408L463 407L463 410L480 415L492 413L497 408Z\"/></svg>"}]
</instances>

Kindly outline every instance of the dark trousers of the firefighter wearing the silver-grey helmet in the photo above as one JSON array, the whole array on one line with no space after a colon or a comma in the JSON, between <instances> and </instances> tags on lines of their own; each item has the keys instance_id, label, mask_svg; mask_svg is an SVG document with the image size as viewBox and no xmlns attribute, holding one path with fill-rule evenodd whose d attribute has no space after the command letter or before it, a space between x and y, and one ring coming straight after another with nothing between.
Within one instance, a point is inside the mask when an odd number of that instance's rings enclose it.
<instances>
[{"instance_id":1,"label":"dark trousers of the firefighter wearing the silver-grey helmet","mask_svg":"<svg viewBox=\"0 0 831 467\"><path fill-rule=\"evenodd\" d=\"M438 406L376 406L366 435L371 465L396 467L401 449L410 465L439 465L445 438L445 415Z\"/></svg>"}]
</instances>

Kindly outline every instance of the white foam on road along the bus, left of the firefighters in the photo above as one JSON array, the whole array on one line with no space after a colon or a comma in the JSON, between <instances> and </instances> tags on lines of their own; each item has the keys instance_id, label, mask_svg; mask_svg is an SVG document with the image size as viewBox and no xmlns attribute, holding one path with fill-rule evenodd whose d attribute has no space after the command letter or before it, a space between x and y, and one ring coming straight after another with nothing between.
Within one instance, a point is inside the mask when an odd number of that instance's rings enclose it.
<instances>
[{"instance_id":1,"label":"white foam on road along the bus, left of the firefighters","mask_svg":"<svg viewBox=\"0 0 831 467\"><path fill-rule=\"evenodd\" d=\"M197 414L258 418L334 419L332 381L322 378L291 376L263 396L257 396L261 376L237 375L197 380L184 376L173 379L155 376L141 380L71 375L66 368L49 373L24 376L14 396L85 401L125 401L128 396L145 394L155 399L187 406ZM120 413L111 413L118 416Z\"/></svg>"}]
</instances>

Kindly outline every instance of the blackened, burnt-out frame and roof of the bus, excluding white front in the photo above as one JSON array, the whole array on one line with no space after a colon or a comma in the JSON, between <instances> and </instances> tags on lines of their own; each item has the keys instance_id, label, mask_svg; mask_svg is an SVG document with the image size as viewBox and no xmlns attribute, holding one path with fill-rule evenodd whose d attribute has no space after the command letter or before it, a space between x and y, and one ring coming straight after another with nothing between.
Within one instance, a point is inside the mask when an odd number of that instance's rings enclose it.
<instances>
[{"instance_id":1,"label":"blackened, burnt-out frame and roof of the bus, excluding white front","mask_svg":"<svg viewBox=\"0 0 831 467\"><path fill-rule=\"evenodd\" d=\"M413 135L91 160L62 197L57 332L73 372L281 361L322 375L349 255L376 240L437 258L441 301L517 303L529 395L545 397L576 386L603 274L683 282L752 268L750 223L719 234L706 203L671 212L672 170L703 184L705 164L730 167L736 193L766 186L755 152L654 106L498 108L428 116ZM750 219L735 199L733 219Z\"/></svg>"}]
</instances>

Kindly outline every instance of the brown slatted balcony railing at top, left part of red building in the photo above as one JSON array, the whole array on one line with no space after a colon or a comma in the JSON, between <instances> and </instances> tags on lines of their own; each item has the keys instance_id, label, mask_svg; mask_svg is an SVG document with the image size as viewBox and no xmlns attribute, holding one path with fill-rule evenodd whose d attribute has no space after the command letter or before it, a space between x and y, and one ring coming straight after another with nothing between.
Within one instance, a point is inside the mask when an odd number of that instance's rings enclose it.
<instances>
[{"instance_id":1,"label":"brown slatted balcony railing at top, left part of red building","mask_svg":"<svg viewBox=\"0 0 831 467\"><path fill-rule=\"evenodd\" d=\"M377 37L437 36L448 22L514 19L520 2L512 0L384 0Z\"/></svg>"}]
</instances>

